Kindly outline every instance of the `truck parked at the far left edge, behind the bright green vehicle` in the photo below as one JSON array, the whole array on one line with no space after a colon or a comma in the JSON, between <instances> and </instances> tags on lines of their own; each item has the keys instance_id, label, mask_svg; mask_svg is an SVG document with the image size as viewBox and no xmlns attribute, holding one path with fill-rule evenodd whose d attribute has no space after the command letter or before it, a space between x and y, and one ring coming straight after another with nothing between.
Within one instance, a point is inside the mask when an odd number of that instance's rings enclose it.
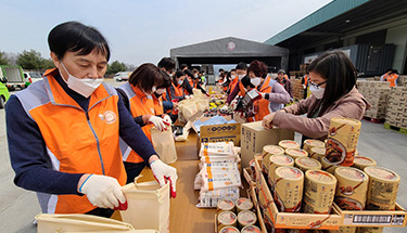
<instances>
[{"instance_id":1,"label":"truck parked at the far left edge, behind the bright green vehicle","mask_svg":"<svg viewBox=\"0 0 407 233\"><path fill-rule=\"evenodd\" d=\"M27 87L21 66L0 65L0 81L5 85L9 91L14 91L15 88L23 90Z\"/></svg>"}]
</instances>

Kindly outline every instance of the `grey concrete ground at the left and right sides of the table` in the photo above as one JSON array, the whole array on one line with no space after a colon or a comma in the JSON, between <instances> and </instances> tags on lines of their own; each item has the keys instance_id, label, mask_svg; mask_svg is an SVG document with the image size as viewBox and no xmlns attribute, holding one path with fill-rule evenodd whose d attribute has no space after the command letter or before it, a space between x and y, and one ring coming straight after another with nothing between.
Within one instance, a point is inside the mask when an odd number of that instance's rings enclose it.
<instances>
[{"instance_id":1,"label":"grey concrete ground at the left and right sides of the table","mask_svg":"<svg viewBox=\"0 0 407 233\"><path fill-rule=\"evenodd\" d=\"M107 80L118 86L113 80ZM23 142L22 142L23 143ZM383 124L363 120L358 143L360 155L374 158L379 166L397 172L402 182L397 203L407 208L407 135L386 130ZM34 192L14 185L14 172L10 158L5 135L4 109L0 109L0 232L36 233L31 224L40 207ZM385 228L385 233L406 233L406 229Z\"/></svg>"}]
</instances>

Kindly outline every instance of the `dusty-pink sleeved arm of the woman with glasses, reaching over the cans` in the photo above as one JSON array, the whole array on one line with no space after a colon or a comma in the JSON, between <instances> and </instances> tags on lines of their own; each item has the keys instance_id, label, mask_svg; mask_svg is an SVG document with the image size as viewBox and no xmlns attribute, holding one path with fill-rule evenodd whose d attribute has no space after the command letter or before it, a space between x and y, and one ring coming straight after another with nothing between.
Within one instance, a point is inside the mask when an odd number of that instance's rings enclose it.
<instances>
[{"instance_id":1,"label":"dusty-pink sleeved arm of the woman with glasses, reaching over the cans","mask_svg":"<svg viewBox=\"0 0 407 233\"><path fill-rule=\"evenodd\" d=\"M341 103L336 108L317 118L307 118L289 114L284 111L278 111L272 119L272 125L279 128L297 131L309 138L318 139L327 135L331 118L346 117L361 119L365 109L366 103L364 101L353 101Z\"/></svg>"}]
</instances>

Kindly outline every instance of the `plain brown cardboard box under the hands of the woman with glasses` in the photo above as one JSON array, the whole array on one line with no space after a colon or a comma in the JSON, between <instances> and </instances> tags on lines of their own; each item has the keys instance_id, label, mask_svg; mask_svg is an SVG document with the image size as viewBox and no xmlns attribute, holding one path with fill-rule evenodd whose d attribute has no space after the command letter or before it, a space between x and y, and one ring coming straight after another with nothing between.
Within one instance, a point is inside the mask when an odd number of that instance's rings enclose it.
<instances>
[{"instance_id":1,"label":"plain brown cardboard box under the hands of the woman with glasses","mask_svg":"<svg viewBox=\"0 0 407 233\"><path fill-rule=\"evenodd\" d=\"M242 167L247 167L254 154L262 153L265 145L277 145L281 140L294 140L294 131L288 129L265 129L262 121L242 124Z\"/></svg>"}]
</instances>

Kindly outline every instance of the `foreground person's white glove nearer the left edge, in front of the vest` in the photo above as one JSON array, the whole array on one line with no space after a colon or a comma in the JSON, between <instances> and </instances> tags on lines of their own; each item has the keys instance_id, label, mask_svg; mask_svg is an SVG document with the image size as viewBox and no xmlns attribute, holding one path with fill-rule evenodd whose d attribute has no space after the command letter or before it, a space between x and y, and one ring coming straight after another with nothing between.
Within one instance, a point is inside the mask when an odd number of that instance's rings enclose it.
<instances>
[{"instance_id":1,"label":"foreground person's white glove nearer the left edge, in front of the vest","mask_svg":"<svg viewBox=\"0 0 407 233\"><path fill-rule=\"evenodd\" d=\"M101 208L118 207L119 203L126 203L122 186L112 177L90 174L81 184L79 192L86 194L93 206Z\"/></svg>"}]
</instances>

